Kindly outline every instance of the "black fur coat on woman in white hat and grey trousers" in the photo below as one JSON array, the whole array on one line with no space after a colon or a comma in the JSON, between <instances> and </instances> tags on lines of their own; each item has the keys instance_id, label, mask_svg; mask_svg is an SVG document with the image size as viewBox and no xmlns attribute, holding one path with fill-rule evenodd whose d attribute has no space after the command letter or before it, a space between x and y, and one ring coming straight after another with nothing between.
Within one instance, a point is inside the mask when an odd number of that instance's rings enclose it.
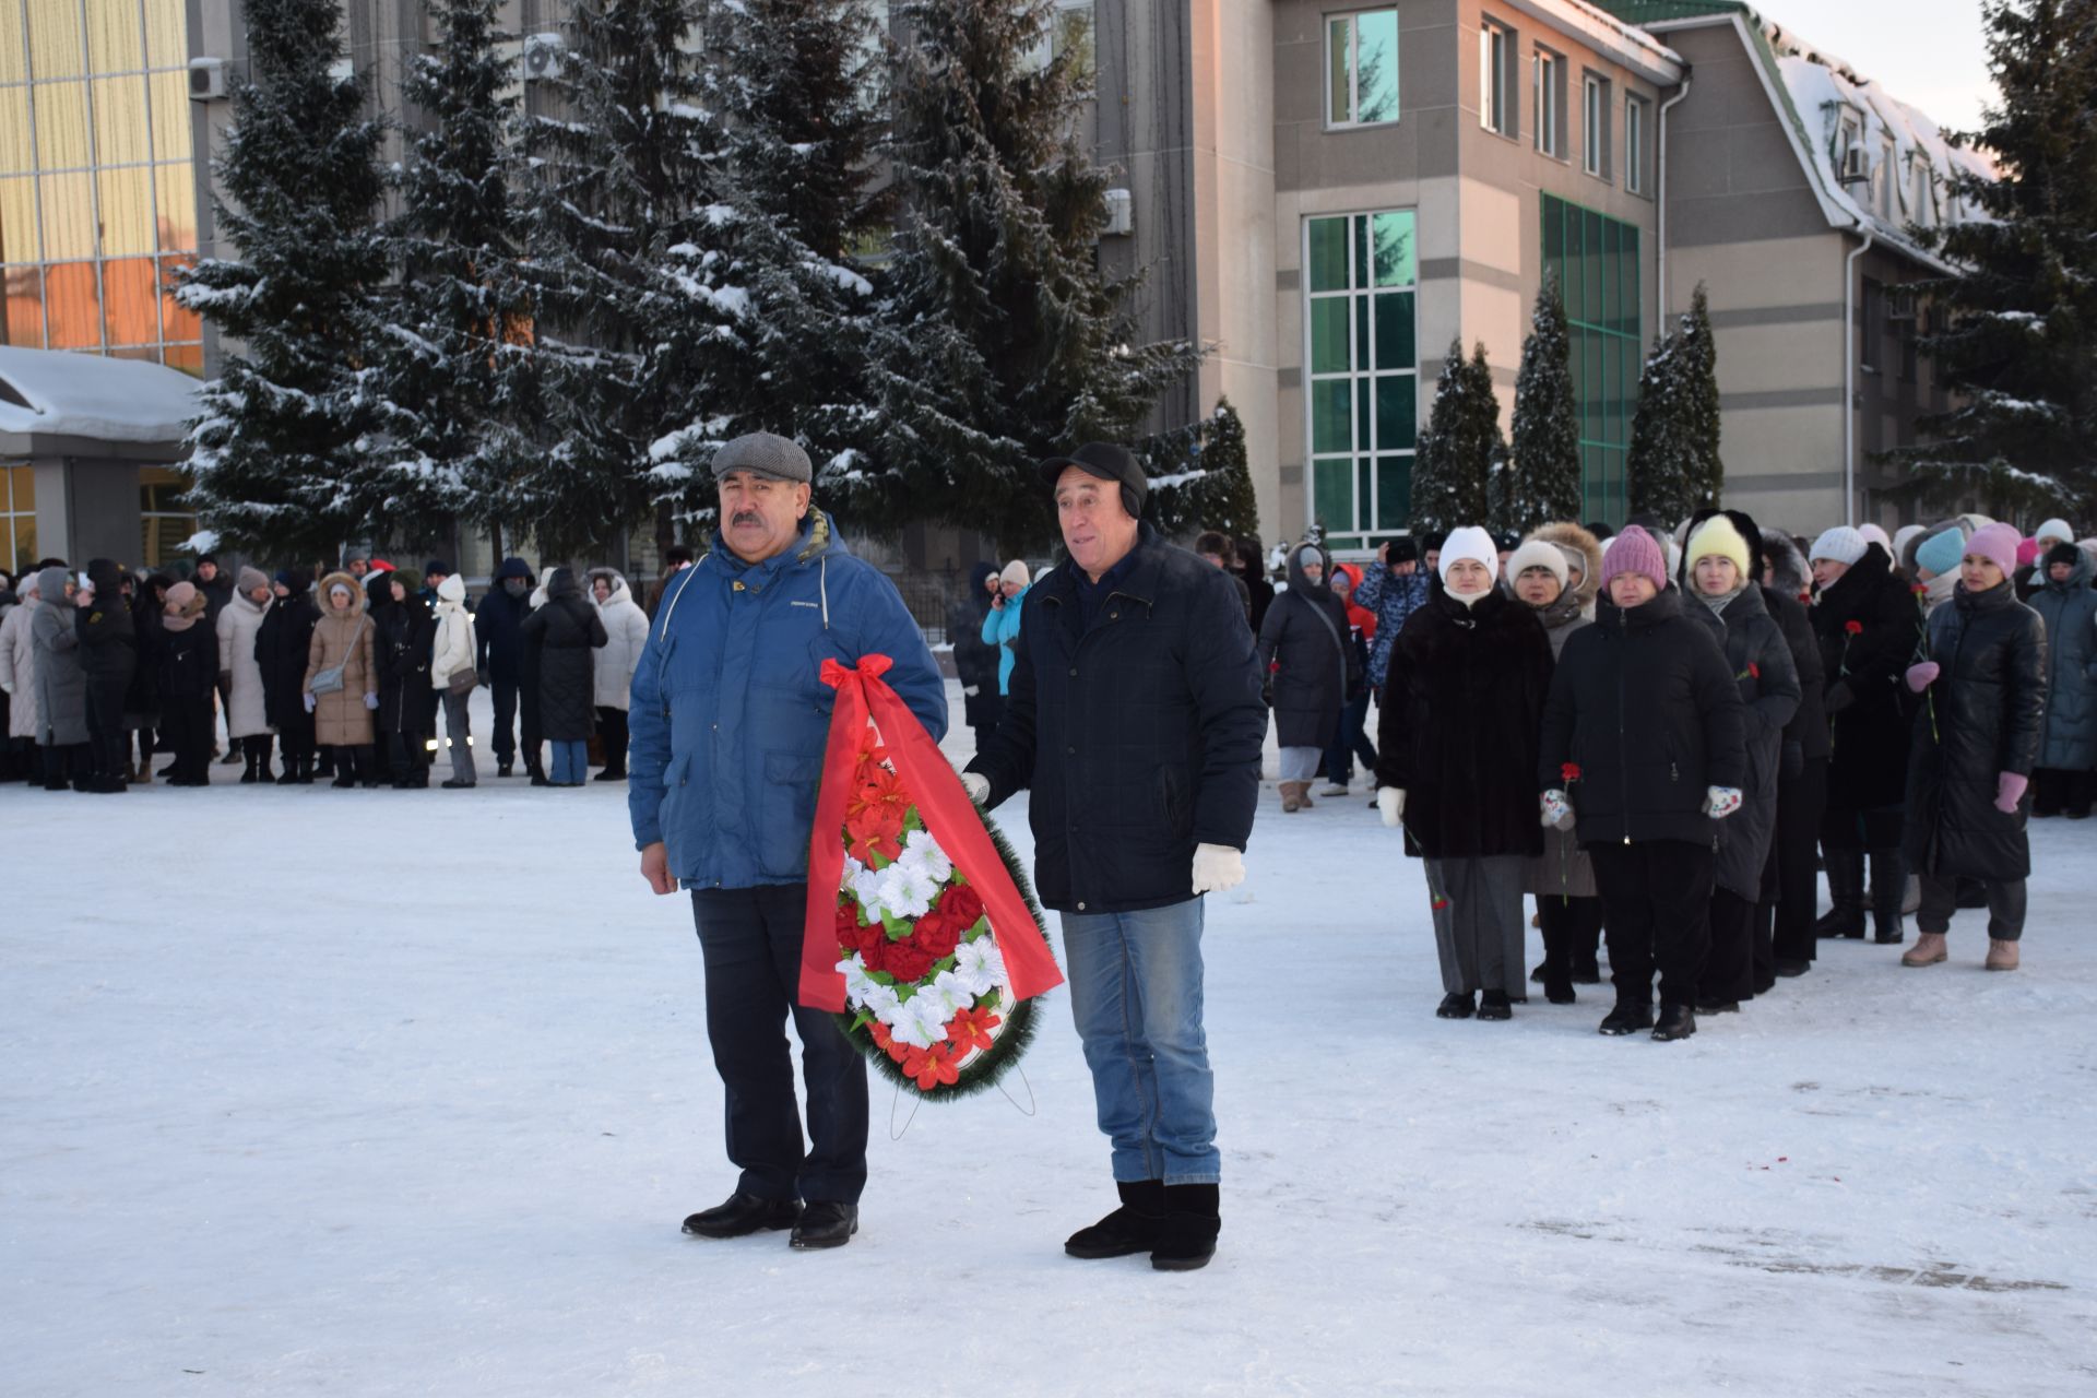
<instances>
[{"instance_id":1,"label":"black fur coat on woman in white hat and grey trousers","mask_svg":"<svg viewBox=\"0 0 2097 1398\"><path fill-rule=\"evenodd\" d=\"M1550 685L1550 635L1499 589L1472 606L1436 593L1405 618L1376 784L1405 790L1407 845L1428 859L1543 853L1535 776Z\"/></svg>"}]
</instances>

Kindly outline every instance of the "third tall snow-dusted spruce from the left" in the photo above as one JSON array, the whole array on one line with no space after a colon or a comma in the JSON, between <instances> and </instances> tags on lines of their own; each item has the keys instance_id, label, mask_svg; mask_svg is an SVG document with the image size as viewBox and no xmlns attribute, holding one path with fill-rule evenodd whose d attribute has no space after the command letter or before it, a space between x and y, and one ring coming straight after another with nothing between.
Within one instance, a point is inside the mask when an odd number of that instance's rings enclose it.
<instances>
[{"instance_id":1,"label":"third tall snow-dusted spruce from the left","mask_svg":"<svg viewBox=\"0 0 2097 1398\"><path fill-rule=\"evenodd\" d=\"M665 541L661 497L692 469L658 465L650 449L694 411L717 411L696 400L705 331L692 333L692 289L673 266L673 249L705 245L713 228L707 155L719 132L690 50L711 17L698 0L577 0L560 71L541 84L558 111L522 124L524 266L554 444L512 501L547 553L610 541L650 509Z\"/></svg>"}]
</instances>

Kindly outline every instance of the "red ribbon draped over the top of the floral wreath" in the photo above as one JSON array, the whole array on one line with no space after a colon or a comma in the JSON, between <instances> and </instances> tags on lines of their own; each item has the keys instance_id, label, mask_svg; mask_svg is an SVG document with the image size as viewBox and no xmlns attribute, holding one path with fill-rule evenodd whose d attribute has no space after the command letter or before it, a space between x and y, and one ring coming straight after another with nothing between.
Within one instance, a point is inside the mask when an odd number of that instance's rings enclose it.
<instances>
[{"instance_id":1,"label":"red ribbon draped over the top of the floral wreath","mask_svg":"<svg viewBox=\"0 0 2097 1398\"><path fill-rule=\"evenodd\" d=\"M830 713L830 742L822 755L824 780L816 794L816 830L807 851L801 1004L830 1012L845 1008L845 977L837 970L837 887L845 874L845 843L839 832L845 826L849 776L858 765L866 719L881 729L881 744L895 763L895 776L910 792L925 830L983 899L1013 998L1028 1000L1055 989L1063 983L1063 973L1042 941L1034 912L1019 897L960 778L902 696L881 679L891 669L895 662L887 656L860 656L858 669L837 660L822 662L822 683L837 690L837 708Z\"/></svg>"}]
</instances>

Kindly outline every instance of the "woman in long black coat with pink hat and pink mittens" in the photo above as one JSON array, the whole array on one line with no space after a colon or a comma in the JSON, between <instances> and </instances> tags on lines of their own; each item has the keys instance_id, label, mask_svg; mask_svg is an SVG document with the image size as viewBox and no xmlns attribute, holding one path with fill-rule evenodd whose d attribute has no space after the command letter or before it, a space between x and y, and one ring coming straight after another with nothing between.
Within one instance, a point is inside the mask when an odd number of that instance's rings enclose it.
<instances>
[{"instance_id":1,"label":"woman in long black coat with pink hat and pink mittens","mask_svg":"<svg viewBox=\"0 0 2097 1398\"><path fill-rule=\"evenodd\" d=\"M1925 698L1908 763L1908 868L1921 874L1919 937L1902 966L1936 966L1959 905L1959 880L1988 891L1988 970L2015 970L2032 845L2030 778L2047 713L2047 633L2017 602L2017 532L1990 524L1967 539L1950 606L1929 616L1929 658L1910 667Z\"/></svg>"}]
</instances>

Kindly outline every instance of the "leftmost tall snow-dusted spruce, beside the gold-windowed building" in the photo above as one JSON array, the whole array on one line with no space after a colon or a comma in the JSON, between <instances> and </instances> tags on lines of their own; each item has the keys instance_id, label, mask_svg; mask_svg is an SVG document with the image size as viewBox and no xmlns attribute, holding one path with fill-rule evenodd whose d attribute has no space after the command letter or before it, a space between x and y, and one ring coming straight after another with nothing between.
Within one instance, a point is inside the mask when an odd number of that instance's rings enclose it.
<instances>
[{"instance_id":1,"label":"leftmost tall snow-dusted spruce, beside the gold-windowed building","mask_svg":"<svg viewBox=\"0 0 2097 1398\"><path fill-rule=\"evenodd\" d=\"M333 555L403 518L373 444L401 421L373 377L386 279L375 228L380 124L342 54L336 0L245 0L250 78L214 166L233 258L185 270L176 300L239 352L203 386L189 497L237 549ZM411 501L409 501L411 507Z\"/></svg>"}]
</instances>

